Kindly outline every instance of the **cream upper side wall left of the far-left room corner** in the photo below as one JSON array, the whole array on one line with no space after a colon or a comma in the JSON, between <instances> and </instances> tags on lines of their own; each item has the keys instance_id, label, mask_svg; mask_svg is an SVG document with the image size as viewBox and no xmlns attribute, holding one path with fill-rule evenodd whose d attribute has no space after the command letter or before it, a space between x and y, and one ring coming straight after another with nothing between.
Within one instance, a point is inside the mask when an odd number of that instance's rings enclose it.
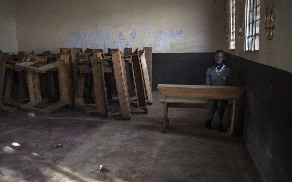
<instances>
[{"instance_id":1,"label":"cream upper side wall left of the far-left room corner","mask_svg":"<svg viewBox=\"0 0 292 182\"><path fill-rule=\"evenodd\" d=\"M15 0L0 1L0 50L17 54Z\"/></svg>"}]
</instances>

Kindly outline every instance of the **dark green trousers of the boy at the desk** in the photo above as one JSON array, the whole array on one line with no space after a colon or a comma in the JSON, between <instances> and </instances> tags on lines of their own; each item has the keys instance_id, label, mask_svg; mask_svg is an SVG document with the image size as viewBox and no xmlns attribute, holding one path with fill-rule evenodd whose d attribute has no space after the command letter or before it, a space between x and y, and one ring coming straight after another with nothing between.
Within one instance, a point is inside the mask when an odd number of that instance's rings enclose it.
<instances>
[{"instance_id":1,"label":"dark green trousers of the boy at the desk","mask_svg":"<svg viewBox=\"0 0 292 182\"><path fill-rule=\"evenodd\" d=\"M217 110L218 114L218 124L222 124L222 119L225 112L225 106L227 104L228 100L222 100L222 99L208 99L209 104L209 112L208 112L208 121L212 121L213 115L215 114Z\"/></svg>"}]
</instances>

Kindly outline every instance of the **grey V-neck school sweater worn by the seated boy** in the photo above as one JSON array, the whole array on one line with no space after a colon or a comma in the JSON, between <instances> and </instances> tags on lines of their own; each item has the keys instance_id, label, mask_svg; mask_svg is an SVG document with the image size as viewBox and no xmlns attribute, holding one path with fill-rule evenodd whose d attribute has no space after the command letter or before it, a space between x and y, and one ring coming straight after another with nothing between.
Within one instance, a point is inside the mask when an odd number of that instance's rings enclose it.
<instances>
[{"instance_id":1,"label":"grey V-neck school sweater worn by the seated boy","mask_svg":"<svg viewBox=\"0 0 292 182\"><path fill-rule=\"evenodd\" d=\"M208 68L206 72L206 85L232 86L231 69L225 66L225 68L218 74L214 66Z\"/></svg>"}]
</instances>

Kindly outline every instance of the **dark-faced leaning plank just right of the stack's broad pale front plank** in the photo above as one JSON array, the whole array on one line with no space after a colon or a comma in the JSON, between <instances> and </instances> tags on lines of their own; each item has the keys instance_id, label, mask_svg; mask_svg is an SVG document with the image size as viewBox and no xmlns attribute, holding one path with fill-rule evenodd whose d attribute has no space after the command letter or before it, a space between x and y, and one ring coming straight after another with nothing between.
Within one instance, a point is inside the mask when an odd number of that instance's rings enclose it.
<instances>
[{"instance_id":1,"label":"dark-faced leaning plank just right of the stack's broad pale front plank","mask_svg":"<svg viewBox=\"0 0 292 182\"><path fill-rule=\"evenodd\" d=\"M132 56L133 80L134 80L135 91L136 91L136 96L137 96L137 103L138 103L138 107L146 107L147 101L146 101L144 79L143 79L143 73L142 73L138 48L134 52L134 54L137 54L136 56ZM143 110L148 112L147 107L144 108Z\"/></svg>"}]
</instances>

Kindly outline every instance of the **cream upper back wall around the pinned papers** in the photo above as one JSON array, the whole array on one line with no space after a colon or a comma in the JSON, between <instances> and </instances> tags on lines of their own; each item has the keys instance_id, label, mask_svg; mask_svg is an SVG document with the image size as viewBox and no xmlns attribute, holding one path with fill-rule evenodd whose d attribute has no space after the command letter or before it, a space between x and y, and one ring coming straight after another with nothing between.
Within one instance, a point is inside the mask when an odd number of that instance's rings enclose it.
<instances>
[{"instance_id":1,"label":"cream upper back wall around the pinned papers","mask_svg":"<svg viewBox=\"0 0 292 182\"><path fill-rule=\"evenodd\" d=\"M130 29L138 29L133 49L151 46L155 52L156 31L183 29L185 38L171 40L168 52L215 52L226 42L225 8L225 0L16 0L17 48L57 53L67 47L71 30L111 30L113 48L119 29L125 30L126 39L120 40L125 48ZM151 26L150 36L143 35L145 24ZM104 46L104 40L82 43Z\"/></svg>"}]
</instances>

